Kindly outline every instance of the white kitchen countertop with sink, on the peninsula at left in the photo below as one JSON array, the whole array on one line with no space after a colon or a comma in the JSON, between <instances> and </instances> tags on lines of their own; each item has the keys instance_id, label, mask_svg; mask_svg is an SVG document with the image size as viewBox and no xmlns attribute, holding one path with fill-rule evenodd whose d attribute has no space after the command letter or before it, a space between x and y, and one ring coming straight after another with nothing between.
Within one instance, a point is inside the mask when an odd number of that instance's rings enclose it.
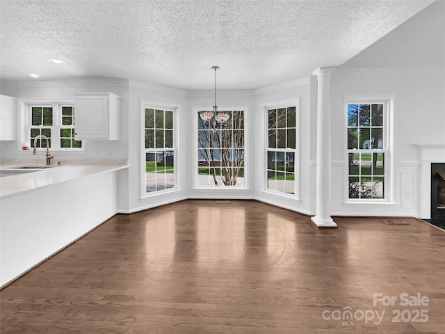
<instances>
[{"instance_id":1,"label":"white kitchen countertop with sink, on the peninsula at left","mask_svg":"<svg viewBox=\"0 0 445 334\"><path fill-rule=\"evenodd\" d=\"M51 186L61 182L69 182L85 177L92 177L104 173L111 173L115 170L128 168L127 160L121 161L92 161L76 162L76 164L62 164L61 166L54 166L45 168L30 173L21 173L19 175L12 175L7 177L0 177L0 198L6 196L13 196L23 191L31 191L33 189L42 188L44 186ZM14 170L17 166L35 166L35 164L27 164L24 161L10 162L8 164L1 164L0 172L6 170ZM44 164L41 164L44 166Z\"/></svg>"}]
</instances>

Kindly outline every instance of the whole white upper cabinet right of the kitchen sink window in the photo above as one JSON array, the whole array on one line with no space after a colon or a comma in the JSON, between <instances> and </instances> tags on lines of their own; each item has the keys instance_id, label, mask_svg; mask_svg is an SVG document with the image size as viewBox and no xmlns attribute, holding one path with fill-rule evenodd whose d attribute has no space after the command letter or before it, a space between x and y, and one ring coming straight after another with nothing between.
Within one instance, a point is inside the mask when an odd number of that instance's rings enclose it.
<instances>
[{"instance_id":1,"label":"whole white upper cabinet right of the kitchen sink window","mask_svg":"<svg viewBox=\"0 0 445 334\"><path fill-rule=\"evenodd\" d=\"M120 97L113 93L74 93L76 139L120 138Z\"/></svg>"}]
</instances>

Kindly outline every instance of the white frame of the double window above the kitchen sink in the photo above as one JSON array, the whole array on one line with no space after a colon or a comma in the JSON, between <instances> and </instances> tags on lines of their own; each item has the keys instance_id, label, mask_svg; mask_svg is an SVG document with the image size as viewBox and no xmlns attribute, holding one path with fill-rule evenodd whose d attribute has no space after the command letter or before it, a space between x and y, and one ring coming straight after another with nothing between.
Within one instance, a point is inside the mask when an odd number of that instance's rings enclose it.
<instances>
[{"instance_id":1,"label":"white frame of the double window above the kitchen sink","mask_svg":"<svg viewBox=\"0 0 445 334\"><path fill-rule=\"evenodd\" d=\"M85 154L85 141L82 141L82 147L81 148L61 148L60 147L60 129L68 129L68 128L74 128L76 127L76 111L74 109L74 101L67 101L67 102L54 102L54 101L25 101L23 103L24 108L22 109L23 112L20 113L19 122L21 120L24 120L24 126L19 126L19 133L21 137L21 141L19 142L19 150L22 148L22 142L26 141L29 143L30 148L33 148L33 145L31 145L31 129L34 128L32 126L32 116L31 116L31 109L33 106L38 107L44 107L44 106L50 106L53 109L53 125L49 126L42 126L42 127L49 127L51 128L51 146L49 147L49 150L51 152L62 152L63 154ZM72 106L73 107L73 113L74 113L74 126L68 127L63 125L63 117L62 117L62 107L63 106ZM46 146L43 148L36 148L38 152L46 151Z\"/></svg>"}]
</instances>

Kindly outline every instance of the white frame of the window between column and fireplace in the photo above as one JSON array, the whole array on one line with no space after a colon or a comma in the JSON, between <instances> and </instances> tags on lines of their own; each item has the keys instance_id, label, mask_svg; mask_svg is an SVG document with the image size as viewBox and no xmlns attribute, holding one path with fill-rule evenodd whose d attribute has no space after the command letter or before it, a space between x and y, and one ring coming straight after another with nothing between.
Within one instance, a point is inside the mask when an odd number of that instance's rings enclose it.
<instances>
[{"instance_id":1,"label":"white frame of the window between column and fireplace","mask_svg":"<svg viewBox=\"0 0 445 334\"><path fill-rule=\"evenodd\" d=\"M394 164L393 164L393 136L394 136L394 105L395 98L392 96L368 96L366 95L346 95L343 102L343 156L346 157L343 173L344 196L343 202L345 204L394 204ZM378 150L364 150L364 149L348 149L348 104L383 104L383 140L382 149ZM349 198L349 153L384 153L385 154L385 186L383 191L383 198Z\"/></svg>"}]
</instances>

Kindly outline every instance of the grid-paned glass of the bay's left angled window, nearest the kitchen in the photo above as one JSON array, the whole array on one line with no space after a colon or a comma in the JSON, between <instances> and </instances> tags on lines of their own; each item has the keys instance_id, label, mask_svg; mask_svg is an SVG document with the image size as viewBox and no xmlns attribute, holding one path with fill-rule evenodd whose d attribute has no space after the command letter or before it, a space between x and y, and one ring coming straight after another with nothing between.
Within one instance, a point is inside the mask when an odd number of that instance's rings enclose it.
<instances>
[{"instance_id":1,"label":"grid-paned glass of the bay's left angled window, nearest the kitchen","mask_svg":"<svg viewBox=\"0 0 445 334\"><path fill-rule=\"evenodd\" d=\"M175 189L174 110L145 108L145 192Z\"/></svg>"}]
</instances>

